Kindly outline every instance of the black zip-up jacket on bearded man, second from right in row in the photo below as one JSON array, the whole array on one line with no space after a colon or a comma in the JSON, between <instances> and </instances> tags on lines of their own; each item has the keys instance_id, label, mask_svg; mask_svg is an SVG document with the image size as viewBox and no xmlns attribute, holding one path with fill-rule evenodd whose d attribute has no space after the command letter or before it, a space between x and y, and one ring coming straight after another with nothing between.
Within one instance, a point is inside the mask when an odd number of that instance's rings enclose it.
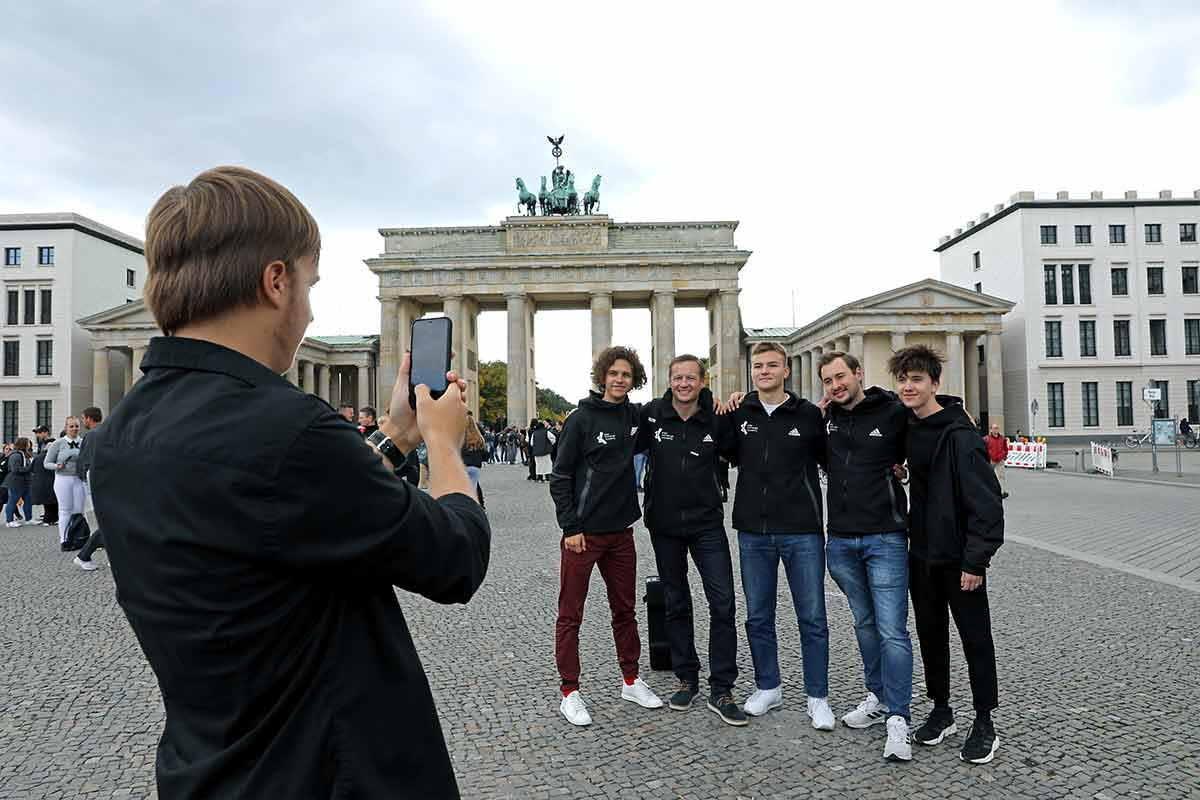
<instances>
[{"instance_id":1,"label":"black zip-up jacket on bearded man, second from right in row","mask_svg":"<svg viewBox=\"0 0 1200 800\"><path fill-rule=\"evenodd\" d=\"M892 470L905 461L912 411L871 386L853 409L826 408L830 536L908 530L908 498Z\"/></svg>"}]
</instances>

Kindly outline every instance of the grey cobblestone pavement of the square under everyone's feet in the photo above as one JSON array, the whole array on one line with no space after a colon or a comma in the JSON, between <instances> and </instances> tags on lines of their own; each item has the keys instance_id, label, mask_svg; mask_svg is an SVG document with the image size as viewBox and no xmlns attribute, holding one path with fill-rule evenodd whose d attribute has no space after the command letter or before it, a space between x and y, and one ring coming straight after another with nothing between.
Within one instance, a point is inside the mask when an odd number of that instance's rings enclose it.
<instances>
[{"instance_id":1,"label":"grey cobblestone pavement of the square under everyone's feet","mask_svg":"<svg viewBox=\"0 0 1200 800\"><path fill-rule=\"evenodd\" d=\"M558 534L548 493L527 483L522 468L486 468L494 545L484 588L466 607L401 597L463 796L1200 799L1193 715L1200 594L1044 549L1056 537L1073 537L1081 553L1104 542L1134 545L1165 529L1176 545L1194 542L1194 504L1186 513L1183 503L1192 492L1163 488L1160 497L1157 487L1013 471L1009 530L1042 547L1006 545L989 576L1002 744L992 764L971 766L958 759L965 734L917 747L910 764L889 764L881 757L882 727L814 730L784 594L785 706L734 729L702 704L680 714L619 699L607 602L595 577L582 630L583 692L595 723L572 728L557 710ZM1159 511L1162 504L1177 510ZM155 796L162 705L154 675L116 607L109 571L80 572L55 542L49 528L0 533L0 800ZM654 572L641 528L637 543L641 578ZM1170 542L1158 546L1171 552ZM104 563L103 552L97 560ZM850 612L832 582L826 591L830 700L841 715L864 690ZM740 596L738 616L745 616ZM702 603L697 628L703 657ZM970 693L956 643L952 650L965 729ZM736 691L744 699L754 688L744 636L738 663ZM647 681L667 693L673 676L649 672L644 640L642 664ZM916 718L929 710L920 680L918 654Z\"/></svg>"}]
</instances>

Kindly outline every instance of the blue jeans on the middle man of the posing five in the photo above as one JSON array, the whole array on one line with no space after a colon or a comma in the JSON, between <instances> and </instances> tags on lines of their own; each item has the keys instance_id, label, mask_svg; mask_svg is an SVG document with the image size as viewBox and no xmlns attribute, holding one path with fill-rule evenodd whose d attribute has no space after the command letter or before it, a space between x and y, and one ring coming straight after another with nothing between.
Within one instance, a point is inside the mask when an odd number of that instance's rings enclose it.
<instances>
[{"instance_id":1,"label":"blue jeans on the middle man of the posing five","mask_svg":"<svg viewBox=\"0 0 1200 800\"><path fill-rule=\"evenodd\" d=\"M809 697L829 696L829 625L824 609L824 536L821 534L738 533L742 591L746 597L746 638L758 688L780 685L775 639L775 597L779 563L792 593L800 628L804 691Z\"/></svg>"}]
</instances>

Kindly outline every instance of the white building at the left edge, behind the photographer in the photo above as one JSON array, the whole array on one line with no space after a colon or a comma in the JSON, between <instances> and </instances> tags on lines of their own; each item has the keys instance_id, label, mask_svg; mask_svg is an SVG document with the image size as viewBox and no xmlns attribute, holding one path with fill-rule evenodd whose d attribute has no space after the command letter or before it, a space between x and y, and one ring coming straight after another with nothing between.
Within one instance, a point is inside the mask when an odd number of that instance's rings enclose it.
<instances>
[{"instance_id":1,"label":"white building at the left edge, behind the photographer","mask_svg":"<svg viewBox=\"0 0 1200 800\"><path fill-rule=\"evenodd\" d=\"M92 404L91 343L76 320L142 299L143 243L77 213L0 215L0 438L32 438L37 425L58 434Z\"/></svg>"}]
</instances>

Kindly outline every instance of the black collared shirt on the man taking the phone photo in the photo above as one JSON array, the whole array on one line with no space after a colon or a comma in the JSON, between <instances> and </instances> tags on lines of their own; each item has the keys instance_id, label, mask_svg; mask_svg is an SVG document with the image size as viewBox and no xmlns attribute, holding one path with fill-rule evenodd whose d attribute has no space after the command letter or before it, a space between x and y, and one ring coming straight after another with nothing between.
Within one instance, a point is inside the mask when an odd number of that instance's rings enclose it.
<instances>
[{"instance_id":1,"label":"black collared shirt on the man taking the phone photo","mask_svg":"<svg viewBox=\"0 0 1200 800\"><path fill-rule=\"evenodd\" d=\"M467 602L473 498L397 480L319 397L155 338L95 441L116 599L166 706L158 796L457 798L398 587Z\"/></svg>"}]
</instances>

